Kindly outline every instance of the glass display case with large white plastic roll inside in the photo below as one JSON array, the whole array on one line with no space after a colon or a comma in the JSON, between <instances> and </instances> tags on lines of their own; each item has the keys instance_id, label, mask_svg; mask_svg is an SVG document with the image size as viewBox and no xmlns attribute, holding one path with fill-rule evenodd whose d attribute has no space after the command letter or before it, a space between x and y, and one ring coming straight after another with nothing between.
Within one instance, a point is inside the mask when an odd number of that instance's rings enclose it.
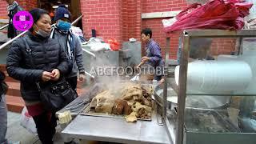
<instances>
[{"instance_id":1,"label":"glass display case with large white plastic roll inside","mask_svg":"<svg viewBox=\"0 0 256 144\"><path fill-rule=\"evenodd\" d=\"M176 144L255 144L256 30L184 30L181 41L180 64L166 75L163 89L170 139ZM166 43L169 47L170 39ZM169 86L178 95L174 108Z\"/></svg>"}]
</instances>

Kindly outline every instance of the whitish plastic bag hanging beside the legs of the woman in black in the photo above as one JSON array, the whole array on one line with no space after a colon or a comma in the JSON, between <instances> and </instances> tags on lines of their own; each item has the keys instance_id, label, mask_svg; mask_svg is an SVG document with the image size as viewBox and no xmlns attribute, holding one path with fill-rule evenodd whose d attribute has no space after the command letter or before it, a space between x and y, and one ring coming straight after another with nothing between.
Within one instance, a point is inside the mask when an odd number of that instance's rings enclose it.
<instances>
[{"instance_id":1,"label":"whitish plastic bag hanging beside the legs of the woman in black","mask_svg":"<svg viewBox=\"0 0 256 144\"><path fill-rule=\"evenodd\" d=\"M28 111L26 110L26 106L24 106L22 110L22 120L20 125L28 130L31 134L38 135L37 128L34 123L34 119L30 116Z\"/></svg>"}]
</instances>

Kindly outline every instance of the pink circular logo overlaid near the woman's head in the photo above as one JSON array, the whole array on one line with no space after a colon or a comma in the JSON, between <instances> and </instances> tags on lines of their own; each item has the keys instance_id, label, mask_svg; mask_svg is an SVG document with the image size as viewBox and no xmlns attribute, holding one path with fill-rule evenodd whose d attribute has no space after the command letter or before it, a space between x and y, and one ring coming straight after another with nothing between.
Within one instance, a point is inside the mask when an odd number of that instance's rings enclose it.
<instances>
[{"instance_id":1,"label":"pink circular logo overlaid near the woman's head","mask_svg":"<svg viewBox=\"0 0 256 144\"><path fill-rule=\"evenodd\" d=\"M14 14L13 23L17 30L29 30L33 26L33 22L32 15L27 11L19 11Z\"/></svg>"}]
</instances>

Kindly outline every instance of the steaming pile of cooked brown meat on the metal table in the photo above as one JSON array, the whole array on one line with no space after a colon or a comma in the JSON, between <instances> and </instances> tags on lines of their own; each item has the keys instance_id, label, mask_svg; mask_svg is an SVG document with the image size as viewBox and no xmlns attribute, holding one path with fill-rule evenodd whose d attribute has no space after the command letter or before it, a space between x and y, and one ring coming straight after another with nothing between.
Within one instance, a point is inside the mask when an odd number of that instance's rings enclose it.
<instances>
[{"instance_id":1,"label":"steaming pile of cooked brown meat on the metal table","mask_svg":"<svg viewBox=\"0 0 256 144\"><path fill-rule=\"evenodd\" d=\"M96 113L125 115L127 122L137 118L149 119L152 111L153 90L149 86L123 83L115 90L103 90L90 102L90 110Z\"/></svg>"}]
</instances>

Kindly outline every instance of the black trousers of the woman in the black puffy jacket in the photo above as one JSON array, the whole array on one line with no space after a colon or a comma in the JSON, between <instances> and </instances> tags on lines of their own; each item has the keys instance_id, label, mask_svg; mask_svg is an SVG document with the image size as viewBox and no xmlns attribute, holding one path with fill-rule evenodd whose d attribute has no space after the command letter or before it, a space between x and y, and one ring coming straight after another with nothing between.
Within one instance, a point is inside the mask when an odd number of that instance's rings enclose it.
<instances>
[{"instance_id":1,"label":"black trousers of the woman in the black puffy jacket","mask_svg":"<svg viewBox=\"0 0 256 144\"><path fill-rule=\"evenodd\" d=\"M48 112L33 117L37 126L38 137L42 144L53 144L54 134L56 132L57 118L54 114Z\"/></svg>"}]
</instances>

